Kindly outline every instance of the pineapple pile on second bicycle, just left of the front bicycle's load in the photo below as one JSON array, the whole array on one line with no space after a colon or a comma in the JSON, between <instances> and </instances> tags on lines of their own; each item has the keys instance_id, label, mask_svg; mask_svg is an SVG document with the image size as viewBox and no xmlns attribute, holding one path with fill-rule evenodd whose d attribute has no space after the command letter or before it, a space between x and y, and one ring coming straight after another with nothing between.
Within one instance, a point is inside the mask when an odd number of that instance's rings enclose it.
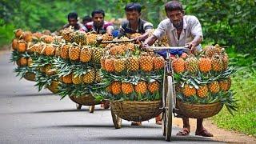
<instances>
[{"instance_id":1,"label":"pineapple pile on second bicycle, just left of the front bicycle's load","mask_svg":"<svg viewBox=\"0 0 256 144\"><path fill-rule=\"evenodd\" d=\"M105 50L97 42L113 39L110 34L94 34L74 29L62 30L64 42L59 46L59 56L54 58L54 69L58 71L61 85L58 87L62 98L66 95L82 97L92 95L96 101L103 100L101 91L102 74L100 58Z\"/></svg>"}]
</instances>

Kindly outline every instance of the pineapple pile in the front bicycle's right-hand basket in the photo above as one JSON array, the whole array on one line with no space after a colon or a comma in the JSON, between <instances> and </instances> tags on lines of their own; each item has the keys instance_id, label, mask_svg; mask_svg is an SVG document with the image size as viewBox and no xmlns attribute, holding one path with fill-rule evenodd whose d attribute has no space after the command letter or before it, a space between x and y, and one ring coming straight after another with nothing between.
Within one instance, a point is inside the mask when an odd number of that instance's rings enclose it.
<instances>
[{"instance_id":1,"label":"pineapple pile in the front bicycle's right-hand basket","mask_svg":"<svg viewBox=\"0 0 256 144\"><path fill-rule=\"evenodd\" d=\"M174 58L172 67L176 95L182 102L213 103L222 102L234 108L229 58L222 47L205 46L198 56ZM230 105L229 105L230 104Z\"/></svg>"}]
</instances>

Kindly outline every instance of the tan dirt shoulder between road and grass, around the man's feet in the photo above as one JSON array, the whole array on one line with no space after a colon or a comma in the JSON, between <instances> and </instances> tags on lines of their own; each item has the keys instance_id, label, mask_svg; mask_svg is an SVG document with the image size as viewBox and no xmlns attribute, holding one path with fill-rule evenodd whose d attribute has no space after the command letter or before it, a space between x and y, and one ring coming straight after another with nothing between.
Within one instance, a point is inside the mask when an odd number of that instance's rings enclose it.
<instances>
[{"instance_id":1,"label":"tan dirt shoulder between road and grass, around the man's feet","mask_svg":"<svg viewBox=\"0 0 256 144\"><path fill-rule=\"evenodd\" d=\"M173 124L174 126L182 128L182 118L174 118ZM190 126L190 131L194 132L196 130L196 119L190 118ZM210 133L214 134L214 137L212 139L216 141L228 143L256 143L256 138L248 136L246 134L218 128L210 121L210 119L205 119L203 122L203 126L205 126L205 128L209 130Z\"/></svg>"}]
</instances>

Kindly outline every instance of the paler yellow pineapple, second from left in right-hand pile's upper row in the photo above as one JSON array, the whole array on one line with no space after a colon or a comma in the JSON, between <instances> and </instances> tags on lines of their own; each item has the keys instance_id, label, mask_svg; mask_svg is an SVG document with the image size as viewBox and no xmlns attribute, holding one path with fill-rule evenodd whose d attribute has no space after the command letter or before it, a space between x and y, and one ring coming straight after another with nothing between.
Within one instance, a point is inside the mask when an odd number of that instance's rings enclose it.
<instances>
[{"instance_id":1,"label":"paler yellow pineapple, second from left in right-hand pile's upper row","mask_svg":"<svg viewBox=\"0 0 256 144\"><path fill-rule=\"evenodd\" d=\"M196 73L198 71L198 59L193 56L186 58L185 69L190 73Z\"/></svg>"}]
</instances>

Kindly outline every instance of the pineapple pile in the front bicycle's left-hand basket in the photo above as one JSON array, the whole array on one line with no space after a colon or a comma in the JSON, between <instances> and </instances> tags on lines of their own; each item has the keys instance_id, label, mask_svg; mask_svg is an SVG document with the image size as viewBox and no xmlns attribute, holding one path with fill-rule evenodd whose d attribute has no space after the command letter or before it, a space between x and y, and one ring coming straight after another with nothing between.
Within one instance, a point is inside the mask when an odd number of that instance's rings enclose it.
<instances>
[{"instance_id":1,"label":"pineapple pile in the front bicycle's left-hand basket","mask_svg":"<svg viewBox=\"0 0 256 144\"><path fill-rule=\"evenodd\" d=\"M164 58L143 52L133 42L111 43L105 50L101 67L108 98L154 101L162 97Z\"/></svg>"}]
</instances>

